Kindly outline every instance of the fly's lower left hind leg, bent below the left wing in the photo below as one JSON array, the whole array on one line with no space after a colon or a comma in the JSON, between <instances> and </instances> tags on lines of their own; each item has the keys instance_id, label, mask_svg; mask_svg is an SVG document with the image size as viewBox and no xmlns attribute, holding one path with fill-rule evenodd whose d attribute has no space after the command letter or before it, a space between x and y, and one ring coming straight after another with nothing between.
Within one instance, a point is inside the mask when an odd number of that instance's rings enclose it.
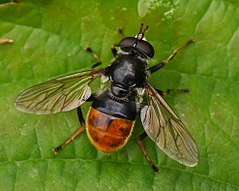
<instances>
[{"instance_id":1,"label":"fly's lower left hind leg, bent below the left wing","mask_svg":"<svg viewBox=\"0 0 239 191\"><path fill-rule=\"evenodd\" d=\"M76 138L79 134L81 134L85 130L85 120L80 107L77 108L77 113L78 113L78 119L80 121L81 127L77 129L64 143L52 149L54 154L57 154L60 150L64 149L66 145L68 145L71 141L74 140L74 138Z\"/></svg>"}]
</instances>

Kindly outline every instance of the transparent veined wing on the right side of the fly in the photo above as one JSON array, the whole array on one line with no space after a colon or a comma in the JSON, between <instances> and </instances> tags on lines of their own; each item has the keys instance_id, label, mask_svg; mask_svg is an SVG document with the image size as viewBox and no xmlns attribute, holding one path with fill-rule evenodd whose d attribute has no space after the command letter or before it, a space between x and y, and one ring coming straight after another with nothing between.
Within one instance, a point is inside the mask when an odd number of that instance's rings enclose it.
<instances>
[{"instance_id":1,"label":"transparent veined wing on the right side of the fly","mask_svg":"<svg viewBox=\"0 0 239 191\"><path fill-rule=\"evenodd\" d=\"M172 159L185 166L196 166L197 145L185 125L151 85L145 90L148 105L142 108L140 118L147 135Z\"/></svg>"}]
</instances>

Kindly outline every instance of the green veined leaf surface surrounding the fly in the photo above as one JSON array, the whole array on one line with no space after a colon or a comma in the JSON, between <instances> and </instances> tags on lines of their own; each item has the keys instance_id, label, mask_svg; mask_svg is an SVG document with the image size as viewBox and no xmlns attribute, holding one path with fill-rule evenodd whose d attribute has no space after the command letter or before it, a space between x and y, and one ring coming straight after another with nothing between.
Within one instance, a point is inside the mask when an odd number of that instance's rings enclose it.
<instances>
[{"instance_id":1,"label":"green veined leaf surface surrounding the fly","mask_svg":"<svg viewBox=\"0 0 239 191\"><path fill-rule=\"evenodd\" d=\"M236 0L4 0L0 39L14 43L0 45L1 190L239 190L238 18ZM150 26L146 38L156 51L150 66L191 36L196 40L150 82L191 90L165 99L198 144L198 166L178 164L146 139L161 169L155 175L135 144L143 131L139 119L116 153L101 154L83 133L54 156L51 149L79 127L76 112L25 114L14 108L15 97L36 83L89 69L95 59L86 46L107 66L120 39L117 28L134 36L141 22Z\"/></svg>"}]
</instances>

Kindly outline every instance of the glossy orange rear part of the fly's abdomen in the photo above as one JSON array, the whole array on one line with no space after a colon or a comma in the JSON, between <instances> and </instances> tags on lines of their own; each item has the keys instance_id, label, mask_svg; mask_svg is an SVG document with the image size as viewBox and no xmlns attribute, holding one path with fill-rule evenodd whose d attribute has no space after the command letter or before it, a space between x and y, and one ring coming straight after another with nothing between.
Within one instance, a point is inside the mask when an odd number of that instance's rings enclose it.
<instances>
[{"instance_id":1,"label":"glossy orange rear part of the fly's abdomen","mask_svg":"<svg viewBox=\"0 0 239 191\"><path fill-rule=\"evenodd\" d=\"M90 108L86 130L92 144L100 151L111 153L122 148L128 141L134 121L114 117Z\"/></svg>"}]
</instances>

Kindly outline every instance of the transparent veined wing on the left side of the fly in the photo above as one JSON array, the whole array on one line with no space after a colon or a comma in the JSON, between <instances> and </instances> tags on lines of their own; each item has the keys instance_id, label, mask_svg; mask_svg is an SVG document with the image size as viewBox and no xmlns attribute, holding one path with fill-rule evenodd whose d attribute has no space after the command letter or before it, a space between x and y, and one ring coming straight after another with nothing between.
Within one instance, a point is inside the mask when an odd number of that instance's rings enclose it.
<instances>
[{"instance_id":1,"label":"transparent veined wing on the left side of the fly","mask_svg":"<svg viewBox=\"0 0 239 191\"><path fill-rule=\"evenodd\" d=\"M27 113L50 114L69 111L91 95L89 83L104 74L104 69L89 70L32 86L20 93L15 106Z\"/></svg>"}]
</instances>

